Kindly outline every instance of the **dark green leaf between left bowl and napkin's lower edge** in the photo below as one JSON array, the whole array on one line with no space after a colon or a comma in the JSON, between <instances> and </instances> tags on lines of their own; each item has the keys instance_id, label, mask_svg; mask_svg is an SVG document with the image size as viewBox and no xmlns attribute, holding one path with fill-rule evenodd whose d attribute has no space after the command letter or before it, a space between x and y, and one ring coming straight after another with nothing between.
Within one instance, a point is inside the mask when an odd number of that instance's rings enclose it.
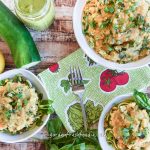
<instances>
[{"instance_id":1,"label":"dark green leaf between left bowl and napkin's lower edge","mask_svg":"<svg viewBox=\"0 0 150 150\"><path fill-rule=\"evenodd\" d=\"M59 118L54 118L48 121L46 127L49 134L59 134L62 132L63 124Z\"/></svg>"}]
</instances>

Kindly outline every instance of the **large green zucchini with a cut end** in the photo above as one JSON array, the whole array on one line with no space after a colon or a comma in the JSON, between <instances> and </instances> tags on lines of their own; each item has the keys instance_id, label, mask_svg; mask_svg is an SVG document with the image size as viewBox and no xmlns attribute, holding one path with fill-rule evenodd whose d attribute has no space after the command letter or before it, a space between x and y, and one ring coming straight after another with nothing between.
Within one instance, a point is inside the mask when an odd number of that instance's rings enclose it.
<instances>
[{"instance_id":1,"label":"large green zucchini with a cut end","mask_svg":"<svg viewBox=\"0 0 150 150\"><path fill-rule=\"evenodd\" d=\"M29 31L1 1L0 37L8 44L17 68L29 68L41 61Z\"/></svg>"}]
</instances>

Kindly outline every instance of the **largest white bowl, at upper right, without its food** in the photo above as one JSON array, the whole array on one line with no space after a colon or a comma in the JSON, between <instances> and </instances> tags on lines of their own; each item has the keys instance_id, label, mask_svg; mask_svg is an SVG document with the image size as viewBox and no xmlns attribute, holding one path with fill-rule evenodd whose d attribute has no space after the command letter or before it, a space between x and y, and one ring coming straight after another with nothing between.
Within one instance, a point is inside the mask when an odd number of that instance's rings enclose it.
<instances>
[{"instance_id":1,"label":"largest white bowl, at upper right, without its food","mask_svg":"<svg viewBox=\"0 0 150 150\"><path fill-rule=\"evenodd\" d=\"M118 64L104 59L103 57L98 55L92 48L90 48L90 46L88 45L85 39L84 34L82 33L82 12L85 3L86 0L77 0L76 2L74 13L73 13L73 29L80 47L92 60L107 68L119 69L119 70L140 68L150 63L150 55L149 55L136 62L131 62L127 64Z\"/></svg>"}]
</instances>

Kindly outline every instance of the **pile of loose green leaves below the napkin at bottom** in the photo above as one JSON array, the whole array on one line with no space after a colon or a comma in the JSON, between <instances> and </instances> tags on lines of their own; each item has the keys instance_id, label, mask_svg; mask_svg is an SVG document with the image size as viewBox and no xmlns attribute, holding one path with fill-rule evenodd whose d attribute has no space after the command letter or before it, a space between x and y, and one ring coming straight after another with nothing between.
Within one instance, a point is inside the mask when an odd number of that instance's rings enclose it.
<instances>
[{"instance_id":1,"label":"pile of loose green leaves below the napkin at bottom","mask_svg":"<svg viewBox=\"0 0 150 150\"><path fill-rule=\"evenodd\" d=\"M44 141L46 150L101 150L98 131L67 133L59 118L47 123L49 138Z\"/></svg>"}]
</instances>

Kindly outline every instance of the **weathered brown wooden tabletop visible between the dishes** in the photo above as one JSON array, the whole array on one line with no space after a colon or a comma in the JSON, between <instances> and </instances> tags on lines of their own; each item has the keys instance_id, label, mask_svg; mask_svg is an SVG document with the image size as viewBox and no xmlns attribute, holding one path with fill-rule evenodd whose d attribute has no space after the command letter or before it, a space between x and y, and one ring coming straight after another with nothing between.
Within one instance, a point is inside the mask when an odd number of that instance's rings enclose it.
<instances>
[{"instance_id":1,"label":"weathered brown wooden tabletop visible between the dishes","mask_svg":"<svg viewBox=\"0 0 150 150\"><path fill-rule=\"evenodd\" d=\"M13 0L1 0L14 11ZM76 0L55 0L56 17L53 25L43 32L31 31L39 49L42 62L30 68L38 74L53 63L58 62L79 48L72 27L72 13ZM0 49L6 58L6 70L15 68L10 50L6 43L0 40ZM0 150L44 150L40 142L23 142L18 144L0 143Z\"/></svg>"}]
</instances>

